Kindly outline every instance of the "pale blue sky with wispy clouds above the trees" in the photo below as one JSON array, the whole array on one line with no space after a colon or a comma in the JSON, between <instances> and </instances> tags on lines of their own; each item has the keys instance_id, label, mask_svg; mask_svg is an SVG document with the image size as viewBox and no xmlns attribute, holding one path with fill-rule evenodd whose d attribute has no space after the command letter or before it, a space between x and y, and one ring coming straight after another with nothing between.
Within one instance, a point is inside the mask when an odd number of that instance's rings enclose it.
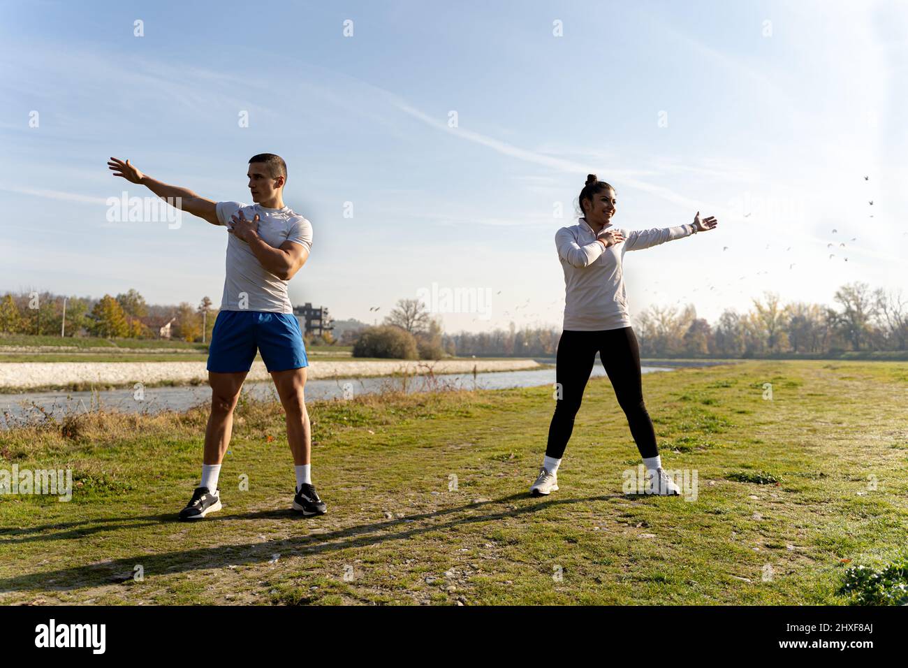
<instances>
[{"instance_id":1,"label":"pale blue sky with wispy clouds above the trees","mask_svg":"<svg viewBox=\"0 0 908 668\"><path fill-rule=\"evenodd\" d=\"M625 255L632 315L908 293L906 47L893 2L0 0L0 291L219 304L225 228L118 219L151 194L107 158L251 203L270 152L314 231L291 302L338 319L559 326L588 173L619 227L719 220Z\"/></svg>"}]
</instances>

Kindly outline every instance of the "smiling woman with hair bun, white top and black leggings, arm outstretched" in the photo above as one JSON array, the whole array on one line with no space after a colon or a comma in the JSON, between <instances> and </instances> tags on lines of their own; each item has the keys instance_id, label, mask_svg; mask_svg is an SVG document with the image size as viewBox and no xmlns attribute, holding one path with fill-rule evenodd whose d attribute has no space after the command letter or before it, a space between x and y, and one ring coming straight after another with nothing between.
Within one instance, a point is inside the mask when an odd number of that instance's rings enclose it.
<instances>
[{"instance_id":1,"label":"smiling woman with hair bun, white top and black leggings, arm outstretched","mask_svg":"<svg viewBox=\"0 0 908 668\"><path fill-rule=\"evenodd\" d=\"M612 225L617 199L615 189L596 174L578 198L584 216L576 225L562 227L555 235L558 259L565 274L565 316L558 341L558 398L548 428L548 445L534 496L558 490L558 466L574 429L583 391L596 363L596 354L615 388L618 404L646 464L646 494L678 494L677 485L662 470L656 431L646 412L640 374L640 350L627 310L622 262L627 251L649 248L716 228L716 218L693 224L626 231Z\"/></svg>"}]
</instances>

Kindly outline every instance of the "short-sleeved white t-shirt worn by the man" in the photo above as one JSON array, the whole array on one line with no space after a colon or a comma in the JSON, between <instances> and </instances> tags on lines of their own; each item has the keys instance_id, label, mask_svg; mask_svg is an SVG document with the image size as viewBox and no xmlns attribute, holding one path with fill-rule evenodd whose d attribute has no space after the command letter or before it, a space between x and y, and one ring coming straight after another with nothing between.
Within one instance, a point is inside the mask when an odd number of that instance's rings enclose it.
<instances>
[{"instance_id":1,"label":"short-sleeved white t-shirt worn by the man","mask_svg":"<svg viewBox=\"0 0 908 668\"><path fill-rule=\"evenodd\" d=\"M285 241L312 248L312 224L300 214L294 214L289 206L281 209L266 209L260 204L241 202L218 202L218 220L228 228L233 226L232 215L242 214L252 220L259 214L259 236L262 240L279 248ZM287 284L271 274L252 253L249 244L235 234L227 234L227 272L224 276L224 293L221 298L222 311L269 311L272 313L293 313Z\"/></svg>"}]
</instances>

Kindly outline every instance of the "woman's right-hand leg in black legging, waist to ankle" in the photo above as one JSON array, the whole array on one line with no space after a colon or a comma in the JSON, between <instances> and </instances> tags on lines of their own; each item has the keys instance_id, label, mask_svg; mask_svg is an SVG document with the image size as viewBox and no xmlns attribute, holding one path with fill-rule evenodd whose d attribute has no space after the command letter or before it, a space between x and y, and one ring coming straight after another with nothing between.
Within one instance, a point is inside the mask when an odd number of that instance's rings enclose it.
<instances>
[{"instance_id":1,"label":"woman's right-hand leg in black legging, waist to ankle","mask_svg":"<svg viewBox=\"0 0 908 668\"><path fill-rule=\"evenodd\" d=\"M630 433L644 459L656 457L656 430L643 403L640 374L640 347L631 327L602 333L599 358L606 367L608 380L615 388L618 404L627 415Z\"/></svg>"}]
</instances>

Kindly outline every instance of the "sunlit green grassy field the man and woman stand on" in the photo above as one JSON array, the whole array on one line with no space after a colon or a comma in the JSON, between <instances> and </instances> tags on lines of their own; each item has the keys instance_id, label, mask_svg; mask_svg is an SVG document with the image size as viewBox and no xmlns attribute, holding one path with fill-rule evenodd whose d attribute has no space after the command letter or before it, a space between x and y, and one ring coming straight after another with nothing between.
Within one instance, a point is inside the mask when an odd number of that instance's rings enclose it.
<instances>
[{"instance_id":1,"label":"sunlit green grassy field the man and woman stand on","mask_svg":"<svg viewBox=\"0 0 908 668\"><path fill-rule=\"evenodd\" d=\"M311 404L329 514L309 520L276 404L239 406L224 509L193 524L174 515L203 410L0 433L0 469L76 481L69 503L0 496L0 603L845 604L849 567L904 557L908 364L749 361L644 387L696 500L622 494L640 460L605 379L545 499L527 489L548 387Z\"/></svg>"}]
</instances>

